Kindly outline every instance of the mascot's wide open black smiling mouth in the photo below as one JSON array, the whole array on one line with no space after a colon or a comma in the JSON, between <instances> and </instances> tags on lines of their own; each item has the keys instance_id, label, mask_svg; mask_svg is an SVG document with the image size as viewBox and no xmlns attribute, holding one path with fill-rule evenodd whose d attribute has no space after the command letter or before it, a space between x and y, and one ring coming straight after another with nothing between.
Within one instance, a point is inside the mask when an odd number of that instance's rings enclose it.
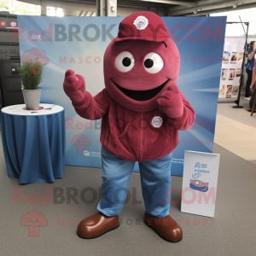
<instances>
[{"instance_id":1,"label":"mascot's wide open black smiling mouth","mask_svg":"<svg viewBox=\"0 0 256 256\"><path fill-rule=\"evenodd\" d=\"M162 90L165 87L165 85L169 80L170 79L167 79L164 84L161 84L160 86L151 90L128 90L119 86L119 84L116 84L115 82L113 83L119 88L119 90L121 90L125 94L125 96L128 96L132 100L135 100L138 102L144 102L154 98L154 96L160 93L160 90Z\"/></svg>"}]
</instances>

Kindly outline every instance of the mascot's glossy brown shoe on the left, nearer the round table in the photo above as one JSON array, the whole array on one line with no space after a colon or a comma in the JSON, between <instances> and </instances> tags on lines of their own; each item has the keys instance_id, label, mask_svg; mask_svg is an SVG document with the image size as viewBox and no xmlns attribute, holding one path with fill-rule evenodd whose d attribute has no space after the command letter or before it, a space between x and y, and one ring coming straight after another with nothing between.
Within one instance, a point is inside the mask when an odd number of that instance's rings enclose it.
<instances>
[{"instance_id":1,"label":"mascot's glossy brown shoe on the left, nearer the round table","mask_svg":"<svg viewBox=\"0 0 256 256\"><path fill-rule=\"evenodd\" d=\"M102 236L110 230L117 229L119 227L119 217L108 217L102 212L98 212L89 218L84 218L78 227L77 234L81 238L96 238Z\"/></svg>"}]
</instances>

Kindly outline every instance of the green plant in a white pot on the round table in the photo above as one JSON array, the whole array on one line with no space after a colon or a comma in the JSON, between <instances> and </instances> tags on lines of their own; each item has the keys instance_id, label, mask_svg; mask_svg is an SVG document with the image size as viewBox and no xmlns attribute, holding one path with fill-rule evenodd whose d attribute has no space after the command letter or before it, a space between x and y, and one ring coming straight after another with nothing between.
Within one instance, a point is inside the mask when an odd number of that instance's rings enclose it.
<instances>
[{"instance_id":1,"label":"green plant in a white pot on the round table","mask_svg":"<svg viewBox=\"0 0 256 256\"><path fill-rule=\"evenodd\" d=\"M23 84L22 94L26 108L38 109L41 96L41 88L38 87L38 84L43 80L44 66L38 61L34 63L25 62L24 64L17 65L16 69L20 74Z\"/></svg>"}]
</instances>

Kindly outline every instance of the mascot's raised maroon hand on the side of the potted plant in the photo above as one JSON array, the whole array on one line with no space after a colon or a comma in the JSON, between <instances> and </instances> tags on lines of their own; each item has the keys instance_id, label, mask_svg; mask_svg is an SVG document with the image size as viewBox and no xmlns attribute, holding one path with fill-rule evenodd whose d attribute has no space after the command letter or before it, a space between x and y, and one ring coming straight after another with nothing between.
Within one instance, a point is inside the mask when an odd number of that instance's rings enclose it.
<instances>
[{"instance_id":1,"label":"mascot's raised maroon hand on the side of the potted plant","mask_svg":"<svg viewBox=\"0 0 256 256\"><path fill-rule=\"evenodd\" d=\"M76 104L84 103L84 77L79 74L74 75L74 71L72 69L68 69L65 73L63 89L72 102Z\"/></svg>"}]
</instances>

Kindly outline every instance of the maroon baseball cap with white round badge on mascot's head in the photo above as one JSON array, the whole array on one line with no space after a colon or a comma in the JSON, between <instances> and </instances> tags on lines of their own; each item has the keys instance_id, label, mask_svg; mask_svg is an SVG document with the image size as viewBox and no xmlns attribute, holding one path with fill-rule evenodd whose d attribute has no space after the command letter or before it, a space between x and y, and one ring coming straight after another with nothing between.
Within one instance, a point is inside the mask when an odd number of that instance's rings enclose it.
<instances>
[{"instance_id":1,"label":"maroon baseball cap with white round badge on mascot's head","mask_svg":"<svg viewBox=\"0 0 256 256\"><path fill-rule=\"evenodd\" d=\"M170 38L165 22L151 12L137 12L125 17L119 24L119 34L115 41L146 40L162 42Z\"/></svg>"}]
</instances>

